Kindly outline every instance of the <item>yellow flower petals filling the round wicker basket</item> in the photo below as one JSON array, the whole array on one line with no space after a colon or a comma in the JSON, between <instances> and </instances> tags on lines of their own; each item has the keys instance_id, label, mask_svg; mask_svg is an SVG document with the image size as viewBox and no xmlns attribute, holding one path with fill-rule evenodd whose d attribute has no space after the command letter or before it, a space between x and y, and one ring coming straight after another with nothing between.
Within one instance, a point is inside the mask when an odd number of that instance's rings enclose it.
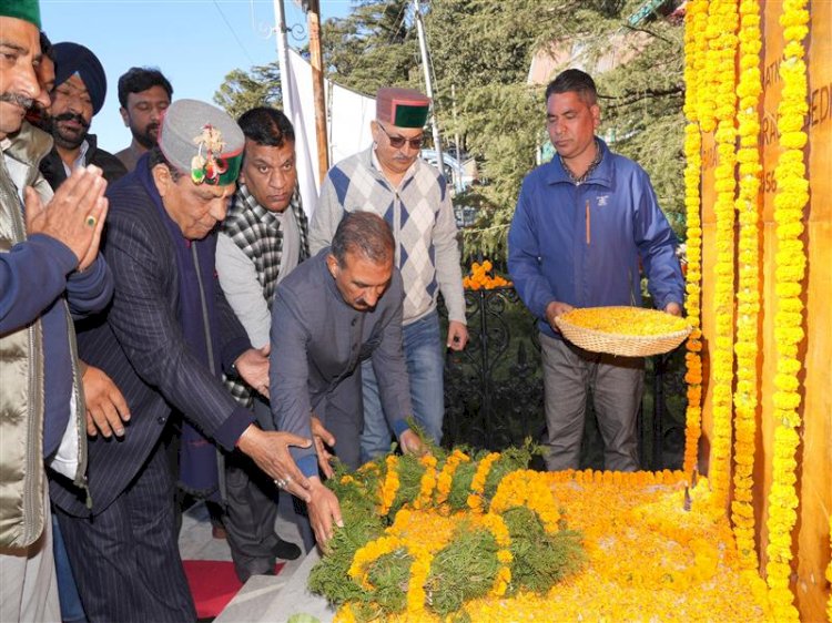
<instances>
[{"instance_id":1,"label":"yellow flower petals filling the round wicker basket","mask_svg":"<svg viewBox=\"0 0 832 623\"><path fill-rule=\"evenodd\" d=\"M683 318L643 307L580 307L561 318L585 329L628 336L661 336L688 328Z\"/></svg>"}]
</instances>

